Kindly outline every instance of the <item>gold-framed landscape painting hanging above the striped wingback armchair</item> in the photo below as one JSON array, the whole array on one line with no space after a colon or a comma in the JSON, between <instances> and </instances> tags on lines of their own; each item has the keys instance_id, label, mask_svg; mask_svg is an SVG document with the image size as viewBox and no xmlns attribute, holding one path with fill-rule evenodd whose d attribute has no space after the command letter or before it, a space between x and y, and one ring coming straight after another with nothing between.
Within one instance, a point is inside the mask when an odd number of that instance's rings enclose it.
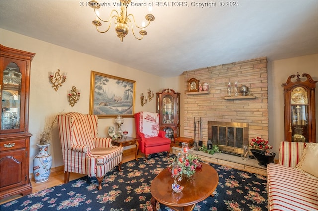
<instances>
[{"instance_id":1,"label":"gold-framed landscape painting hanging above the striped wingback armchair","mask_svg":"<svg viewBox=\"0 0 318 211\"><path fill-rule=\"evenodd\" d=\"M135 89L136 81L91 71L89 114L134 117Z\"/></svg>"}]
</instances>

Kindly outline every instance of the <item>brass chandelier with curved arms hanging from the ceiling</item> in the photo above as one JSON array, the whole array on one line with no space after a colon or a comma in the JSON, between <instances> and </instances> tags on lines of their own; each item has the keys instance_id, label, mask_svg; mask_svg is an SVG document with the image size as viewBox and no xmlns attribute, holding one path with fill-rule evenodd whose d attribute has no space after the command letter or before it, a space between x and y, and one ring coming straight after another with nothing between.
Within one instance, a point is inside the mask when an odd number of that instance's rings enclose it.
<instances>
[{"instance_id":1,"label":"brass chandelier with curved arms hanging from the ceiling","mask_svg":"<svg viewBox=\"0 0 318 211\"><path fill-rule=\"evenodd\" d=\"M138 39L138 40L143 39L144 35L147 35L145 28L147 26L149 26L151 21L155 20L155 17L152 14L147 14L145 18L148 21L148 23L145 25L143 24L143 26L138 26L135 22L134 15L132 15L132 14L127 15L127 7L128 7L130 2L131 2L131 0L120 0L120 15L115 9L113 9L109 15L109 19L103 20L100 18L99 12L97 10L100 8L101 4L95 0L89 1L89 6L94 9L94 12L96 14L96 20L93 20L92 23L93 23L93 25L96 26L97 31L100 33L108 32L108 30L110 29L112 20L114 18L114 20L115 20L114 23L116 24L115 31L117 33L117 37L119 37L121 42L123 42L123 38L128 34L128 31L129 31L128 25L131 26L133 35L136 39ZM105 31L101 31L98 29L98 27L100 27L102 25L101 22L105 22L105 23L109 24ZM139 31L139 34L141 35L141 37L137 37L135 35L133 25L135 25L138 29L141 29Z\"/></svg>"}]
</instances>

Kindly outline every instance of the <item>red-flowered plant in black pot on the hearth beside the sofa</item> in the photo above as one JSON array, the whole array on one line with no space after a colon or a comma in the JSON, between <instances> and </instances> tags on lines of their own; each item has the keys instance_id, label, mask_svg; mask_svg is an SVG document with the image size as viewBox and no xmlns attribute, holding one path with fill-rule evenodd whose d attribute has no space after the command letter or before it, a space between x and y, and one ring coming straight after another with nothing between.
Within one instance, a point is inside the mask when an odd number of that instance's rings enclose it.
<instances>
[{"instance_id":1,"label":"red-flowered plant in black pot on the hearth beside the sofa","mask_svg":"<svg viewBox=\"0 0 318 211\"><path fill-rule=\"evenodd\" d=\"M260 137L253 138L249 147L260 166L266 167L268 163L274 163L276 154L269 151L273 146L269 145L267 140Z\"/></svg>"}]
</instances>

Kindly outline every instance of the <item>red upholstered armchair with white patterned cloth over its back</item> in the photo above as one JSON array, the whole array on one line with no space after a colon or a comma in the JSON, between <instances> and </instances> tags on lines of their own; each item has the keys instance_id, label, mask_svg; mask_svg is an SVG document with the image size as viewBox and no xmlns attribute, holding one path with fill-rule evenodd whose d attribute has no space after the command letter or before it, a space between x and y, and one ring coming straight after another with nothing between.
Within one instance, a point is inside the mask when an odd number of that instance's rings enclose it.
<instances>
[{"instance_id":1,"label":"red upholstered armchair with white patterned cloth over its back","mask_svg":"<svg viewBox=\"0 0 318 211\"><path fill-rule=\"evenodd\" d=\"M164 151L169 156L171 140L165 137L165 131L159 130L159 114L139 112L134 116L139 150L145 154L146 160L150 154Z\"/></svg>"}]
</instances>

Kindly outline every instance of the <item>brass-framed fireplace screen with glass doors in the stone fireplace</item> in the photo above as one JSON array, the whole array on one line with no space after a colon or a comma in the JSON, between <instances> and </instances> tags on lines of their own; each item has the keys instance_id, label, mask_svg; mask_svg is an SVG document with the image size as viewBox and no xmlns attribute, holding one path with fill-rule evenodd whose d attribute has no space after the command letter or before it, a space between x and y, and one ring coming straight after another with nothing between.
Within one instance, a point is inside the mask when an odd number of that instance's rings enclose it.
<instances>
[{"instance_id":1,"label":"brass-framed fireplace screen with glass doors in the stone fireplace","mask_svg":"<svg viewBox=\"0 0 318 211\"><path fill-rule=\"evenodd\" d=\"M208 139L223 152L242 154L243 144L248 144L248 124L208 121Z\"/></svg>"}]
</instances>

